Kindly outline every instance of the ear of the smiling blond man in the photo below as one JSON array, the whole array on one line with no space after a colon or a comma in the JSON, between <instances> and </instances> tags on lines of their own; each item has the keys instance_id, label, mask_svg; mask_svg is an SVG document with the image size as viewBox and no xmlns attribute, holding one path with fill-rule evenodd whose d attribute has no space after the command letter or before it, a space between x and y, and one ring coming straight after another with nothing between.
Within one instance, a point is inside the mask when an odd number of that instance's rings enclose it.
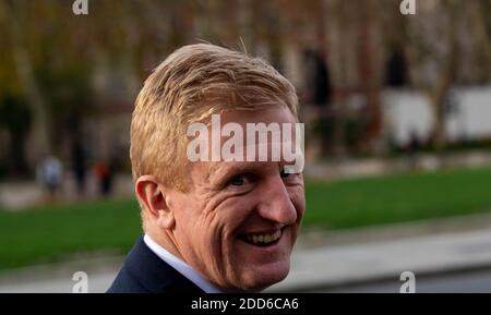
<instances>
[{"instance_id":1,"label":"ear of the smiling blond man","mask_svg":"<svg viewBox=\"0 0 491 315\"><path fill-rule=\"evenodd\" d=\"M168 207L164 187L159 184L156 177L140 177L134 184L134 191L141 204L144 205L145 209L143 210L146 213L147 219L160 228L173 228L176 223L173 213Z\"/></svg>"}]
</instances>

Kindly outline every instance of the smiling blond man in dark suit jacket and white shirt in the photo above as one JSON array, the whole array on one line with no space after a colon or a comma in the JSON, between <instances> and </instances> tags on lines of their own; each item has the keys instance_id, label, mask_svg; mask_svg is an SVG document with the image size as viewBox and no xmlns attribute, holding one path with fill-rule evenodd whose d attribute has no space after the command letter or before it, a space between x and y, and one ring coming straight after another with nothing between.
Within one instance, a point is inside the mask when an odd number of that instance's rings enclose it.
<instances>
[{"instance_id":1,"label":"smiling blond man in dark suit jacket and white shirt","mask_svg":"<svg viewBox=\"0 0 491 315\"><path fill-rule=\"evenodd\" d=\"M288 275L306 206L301 170L287 171L291 160L284 156L270 158L274 146L266 160L237 158L243 147L235 159L192 160L190 125L213 128L214 114L236 132L254 123L291 125L298 99L263 60L207 44L178 49L153 72L131 124L145 235L108 292L251 292ZM229 140L213 137L196 137L201 156ZM252 147L264 148L261 141Z\"/></svg>"}]
</instances>

